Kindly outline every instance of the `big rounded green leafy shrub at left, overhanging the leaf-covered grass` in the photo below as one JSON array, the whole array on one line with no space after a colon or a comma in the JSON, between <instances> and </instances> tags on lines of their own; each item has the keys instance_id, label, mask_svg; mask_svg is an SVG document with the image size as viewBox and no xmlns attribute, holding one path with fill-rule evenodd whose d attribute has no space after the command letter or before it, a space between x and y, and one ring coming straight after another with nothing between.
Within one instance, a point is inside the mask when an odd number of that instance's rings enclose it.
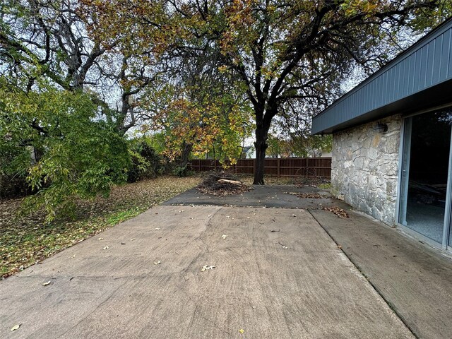
<instances>
[{"instance_id":1,"label":"big rounded green leafy shrub at left, overhanging the leaf-covered grass","mask_svg":"<svg viewBox=\"0 0 452 339\"><path fill-rule=\"evenodd\" d=\"M126 182L127 143L97 108L83 93L49 86L25 93L0 78L0 155L11 157L1 170L26 177L36 192L25 199L26 212L43 208L50 221L70 215L76 199L108 196Z\"/></svg>"}]
</instances>

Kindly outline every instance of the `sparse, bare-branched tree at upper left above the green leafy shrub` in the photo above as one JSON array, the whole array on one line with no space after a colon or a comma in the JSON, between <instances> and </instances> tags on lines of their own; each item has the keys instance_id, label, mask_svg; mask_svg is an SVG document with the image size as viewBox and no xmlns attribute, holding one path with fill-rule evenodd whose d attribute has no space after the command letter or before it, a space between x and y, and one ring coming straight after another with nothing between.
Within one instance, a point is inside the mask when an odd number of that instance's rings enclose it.
<instances>
[{"instance_id":1,"label":"sparse, bare-branched tree at upper left above the green leafy shrub","mask_svg":"<svg viewBox=\"0 0 452 339\"><path fill-rule=\"evenodd\" d=\"M95 13L78 0L5 0L0 4L0 73L25 91L46 79L61 90L94 93L102 119L119 134L136 126L141 111L133 105L155 76L155 61L88 34Z\"/></svg>"}]
</instances>

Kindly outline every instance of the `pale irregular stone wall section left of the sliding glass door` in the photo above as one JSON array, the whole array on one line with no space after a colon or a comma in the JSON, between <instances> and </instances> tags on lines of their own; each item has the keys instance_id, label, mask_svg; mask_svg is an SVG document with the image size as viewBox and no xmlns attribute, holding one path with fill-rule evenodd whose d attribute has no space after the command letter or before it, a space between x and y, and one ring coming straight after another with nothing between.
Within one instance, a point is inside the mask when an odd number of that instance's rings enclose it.
<instances>
[{"instance_id":1,"label":"pale irregular stone wall section left of the sliding glass door","mask_svg":"<svg viewBox=\"0 0 452 339\"><path fill-rule=\"evenodd\" d=\"M378 122L388 131L375 130ZM396 224L401 126L394 115L333 133L333 195L388 225Z\"/></svg>"}]
</instances>

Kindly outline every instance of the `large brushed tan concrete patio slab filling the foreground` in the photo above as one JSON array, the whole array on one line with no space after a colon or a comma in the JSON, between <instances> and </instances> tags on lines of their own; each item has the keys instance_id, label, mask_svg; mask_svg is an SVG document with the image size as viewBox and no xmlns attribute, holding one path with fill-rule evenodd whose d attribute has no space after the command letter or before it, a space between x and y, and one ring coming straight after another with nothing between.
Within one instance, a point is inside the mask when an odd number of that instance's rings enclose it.
<instances>
[{"instance_id":1,"label":"large brushed tan concrete patio slab filling the foreground","mask_svg":"<svg viewBox=\"0 0 452 339\"><path fill-rule=\"evenodd\" d=\"M0 337L414 338L306 210L215 206L151 208L0 282Z\"/></svg>"}]
</instances>

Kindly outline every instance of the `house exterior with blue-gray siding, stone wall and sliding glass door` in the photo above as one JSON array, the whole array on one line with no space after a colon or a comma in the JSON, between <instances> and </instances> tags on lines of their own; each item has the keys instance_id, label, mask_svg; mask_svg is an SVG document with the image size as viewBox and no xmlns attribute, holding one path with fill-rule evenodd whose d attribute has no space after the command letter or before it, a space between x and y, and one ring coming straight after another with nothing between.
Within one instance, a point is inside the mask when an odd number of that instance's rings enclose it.
<instances>
[{"instance_id":1,"label":"house exterior with blue-gray siding, stone wall and sliding glass door","mask_svg":"<svg viewBox=\"0 0 452 339\"><path fill-rule=\"evenodd\" d=\"M452 18L312 119L335 196L451 250Z\"/></svg>"}]
</instances>

